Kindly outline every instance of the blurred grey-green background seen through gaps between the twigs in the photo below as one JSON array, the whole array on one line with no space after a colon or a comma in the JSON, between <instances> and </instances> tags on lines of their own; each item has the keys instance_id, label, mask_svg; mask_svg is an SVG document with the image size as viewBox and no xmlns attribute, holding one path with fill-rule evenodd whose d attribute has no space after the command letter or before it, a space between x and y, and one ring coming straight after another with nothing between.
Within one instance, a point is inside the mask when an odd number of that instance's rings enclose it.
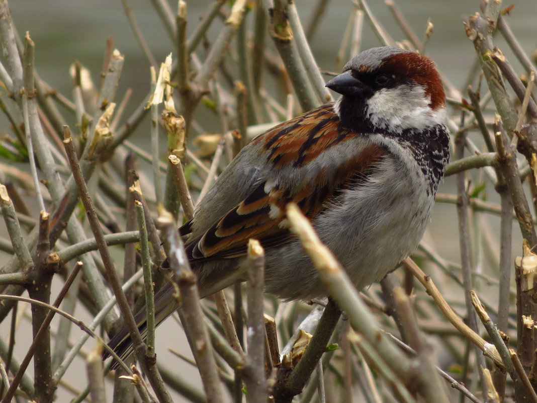
<instances>
[{"instance_id":1,"label":"blurred grey-green background seen through gaps between the twigs","mask_svg":"<svg viewBox=\"0 0 537 403\"><path fill-rule=\"evenodd\" d=\"M162 27L156 12L149 0L131 0L130 6L135 14L137 23L147 40L157 62L164 61L166 55L175 49L171 44L164 28ZM199 16L203 15L209 1L187 2L187 31L190 33L195 27ZM303 25L309 20L313 2L306 0L296 1ZM537 31L535 15L537 15L537 3L533 0L516 1L514 8L506 16L509 24L524 47L525 51L534 54L537 45ZM463 85L467 81L470 67L475 61L473 44L467 39L462 21L468 15L479 10L478 1L452 0L450 2L430 0L398 0L397 5L409 20L411 27L423 38L427 20L434 25L434 32L427 46L426 54L436 61L438 67L451 83L465 93ZM509 4L504 4L506 7ZM170 2L173 10L176 3ZM395 24L393 17L384 2L371 1L369 4L374 16L387 28L395 40L402 40L403 33ZM103 69L103 57L105 53L105 41L114 39L114 47L125 55L125 65L122 71L118 98L128 88L133 89L133 96L127 106L125 117L135 109L149 92L149 62L141 52L132 31L124 9L119 0L12 0L10 2L11 14L19 35L22 37L26 31L30 32L35 42L35 66L37 72L51 87L57 89L68 98L71 98L72 87L70 85L69 67L75 61L91 71L93 81L99 82L100 72ZM323 70L336 70L336 56L340 47L347 21L352 10L352 2L344 0L332 0L328 3L326 11L320 21L320 25L311 41L311 48L319 66ZM251 22L252 16L248 16ZM217 25L217 24L216 24ZM209 39L214 41L219 32L215 27L209 31ZM213 35L211 37L211 35ZM272 46L271 40L267 44ZM364 34L361 49L379 46L380 43L364 21ZM495 45L500 47L507 59L511 61L517 71L521 71L515 57L509 48L505 46L503 38L498 34ZM232 45L233 46L233 45ZM234 52L234 50L232 50ZM275 51L274 51L275 52ZM230 66L234 68L233 66ZM326 79L328 81L328 78ZM460 99L459 99L460 100ZM280 99L284 102L284 99ZM0 117L0 135L9 132L7 121ZM216 130L219 122L212 117L204 120L204 128L207 131ZM144 123L146 129L137 130L137 137L131 140L138 146L148 149L149 147L149 124L148 119ZM146 133L146 134L144 134ZM162 150L165 151L165 142L162 138ZM149 172L149 165L144 167ZM491 186L491 184L488 184ZM447 178L441 184L439 192L454 193L454 179ZM494 190L484 191L491 201L497 200ZM37 217L36 217L37 218ZM490 221L491 236L497 238L494 229L497 228L499 218L488 217ZM513 256L520 255L520 236L518 228L515 228L516 238L513 241ZM4 222L0 220L0 236L5 236ZM425 242L434 245L442 257L449 261L459 261L459 239L456 226L456 212L453 204L437 204ZM9 260L10 256L0 252L0 267ZM479 260L478 262L487 261ZM485 289L488 284L482 284ZM2 325L3 326L3 325ZM166 327L169 330L165 330ZM164 329L163 329L164 328ZM159 334L170 332L176 334L175 323L166 323L159 330ZM1 328L3 329L3 327ZM21 340L17 343L24 344ZM184 344L184 340L179 344ZM21 346L24 350L24 347ZM190 372L190 373L189 373ZM199 382L197 372L187 371L193 382ZM70 379L76 382L81 374L71 374ZM65 401L65 400L64 400ZM176 401L182 401L180 398Z\"/></svg>"}]
</instances>

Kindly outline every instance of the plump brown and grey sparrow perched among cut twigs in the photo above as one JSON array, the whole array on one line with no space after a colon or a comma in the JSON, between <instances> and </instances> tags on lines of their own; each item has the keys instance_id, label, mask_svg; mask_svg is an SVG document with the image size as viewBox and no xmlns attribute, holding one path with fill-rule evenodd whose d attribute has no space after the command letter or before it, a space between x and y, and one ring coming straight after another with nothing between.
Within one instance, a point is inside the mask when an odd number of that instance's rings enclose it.
<instances>
[{"instance_id":1,"label":"plump brown and grey sparrow perched among cut twigs","mask_svg":"<svg viewBox=\"0 0 537 403\"><path fill-rule=\"evenodd\" d=\"M444 89L427 56L367 49L326 87L341 96L257 136L179 228L200 297L246 280L248 241L265 249L265 291L282 300L328 296L289 230L295 203L361 289L418 246L449 162ZM177 308L155 296L156 323ZM141 328L145 311L136 315ZM109 343L130 351L124 329Z\"/></svg>"}]
</instances>

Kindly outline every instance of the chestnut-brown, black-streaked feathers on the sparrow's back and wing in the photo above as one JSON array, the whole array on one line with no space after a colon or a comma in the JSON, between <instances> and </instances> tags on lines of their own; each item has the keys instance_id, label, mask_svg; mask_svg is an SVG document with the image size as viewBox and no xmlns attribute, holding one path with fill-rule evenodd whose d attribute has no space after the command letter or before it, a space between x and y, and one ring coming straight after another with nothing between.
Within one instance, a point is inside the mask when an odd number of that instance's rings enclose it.
<instances>
[{"instance_id":1,"label":"chestnut-brown, black-streaked feathers on the sparrow's back and wing","mask_svg":"<svg viewBox=\"0 0 537 403\"><path fill-rule=\"evenodd\" d=\"M290 127L290 128L289 128ZM323 149L349 140L359 133L339 127L339 119L332 107L317 108L302 117L277 126L255 142L263 141L269 151L274 169L287 164L295 166L317 157ZM241 203L231 208L202 236L187 243L187 253L193 261L212 258L231 258L246 253L250 238L259 240L265 248L288 242L285 206L296 203L310 219L322 213L335 202L340 191L357 185L371 172L375 164L386 155L383 147L371 145L343 163L335 175L317 174L317 180L303 189L286 189L279 185L265 191L260 183Z\"/></svg>"}]
</instances>

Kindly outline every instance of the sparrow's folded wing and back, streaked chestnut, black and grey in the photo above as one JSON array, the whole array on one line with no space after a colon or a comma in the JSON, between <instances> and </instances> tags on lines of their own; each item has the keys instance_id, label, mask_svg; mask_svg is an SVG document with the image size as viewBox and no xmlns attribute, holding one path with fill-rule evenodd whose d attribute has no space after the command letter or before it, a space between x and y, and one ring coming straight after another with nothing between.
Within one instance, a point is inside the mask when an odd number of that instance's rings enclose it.
<instances>
[{"instance_id":1,"label":"sparrow's folded wing and back, streaked chestnut, black and grey","mask_svg":"<svg viewBox=\"0 0 537 403\"><path fill-rule=\"evenodd\" d=\"M274 127L258 136L234 161L257 155L256 180L248 194L229 207L205 228L197 228L186 244L192 262L216 258L234 258L246 253L250 238L271 248L291 239L285 206L297 204L310 219L322 214L331 203L337 203L342 190L359 186L387 149L365 139L339 124L331 105L314 109L299 118ZM328 152L327 152L328 151ZM224 195L233 191L237 180L226 176L215 186ZM237 174L238 175L238 174ZM243 192L237 189L237 193ZM225 200L213 195L204 213L222 208ZM211 205L215 205L213 208ZM204 215L205 215L204 214ZM183 228L194 227L195 220Z\"/></svg>"}]
</instances>

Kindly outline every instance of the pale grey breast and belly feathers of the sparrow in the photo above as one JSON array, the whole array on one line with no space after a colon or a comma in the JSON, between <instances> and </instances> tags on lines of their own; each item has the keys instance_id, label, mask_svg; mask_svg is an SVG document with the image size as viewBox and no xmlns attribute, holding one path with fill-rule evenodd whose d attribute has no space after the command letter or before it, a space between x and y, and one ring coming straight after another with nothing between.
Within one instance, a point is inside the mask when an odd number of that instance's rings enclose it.
<instances>
[{"instance_id":1,"label":"pale grey breast and belly feathers of the sparrow","mask_svg":"<svg viewBox=\"0 0 537 403\"><path fill-rule=\"evenodd\" d=\"M356 141L362 142L360 148L365 146L364 142L380 143L392 153L383 157L379 169L365 183L346 192L344 198L318 215L312 224L343 264L352 282L361 288L380 280L412 253L429 221L434 197L423 196L427 184L407 150L379 135ZM352 144L346 144L334 150L334 155L350 146ZM251 176L249 180L252 181ZM212 197L216 201L227 196ZM201 293L205 295L246 279L244 258L194 263L194 270L199 276ZM297 240L266 250L265 289L283 299L326 295L316 270Z\"/></svg>"}]
</instances>

